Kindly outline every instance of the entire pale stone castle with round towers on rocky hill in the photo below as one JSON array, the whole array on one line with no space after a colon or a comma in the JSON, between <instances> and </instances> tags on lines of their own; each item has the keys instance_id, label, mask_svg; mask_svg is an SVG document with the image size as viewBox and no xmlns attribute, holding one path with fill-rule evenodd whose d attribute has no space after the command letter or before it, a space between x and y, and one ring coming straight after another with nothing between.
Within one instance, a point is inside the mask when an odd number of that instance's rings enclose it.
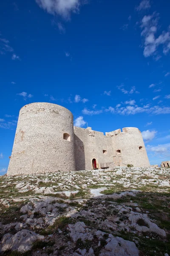
<instances>
[{"instance_id":1,"label":"entire pale stone castle with round towers on rocky hill","mask_svg":"<svg viewBox=\"0 0 170 256\"><path fill-rule=\"evenodd\" d=\"M138 128L93 131L73 126L62 106L36 102L20 109L7 175L150 166Z\"/></svg>"}]
</instances>

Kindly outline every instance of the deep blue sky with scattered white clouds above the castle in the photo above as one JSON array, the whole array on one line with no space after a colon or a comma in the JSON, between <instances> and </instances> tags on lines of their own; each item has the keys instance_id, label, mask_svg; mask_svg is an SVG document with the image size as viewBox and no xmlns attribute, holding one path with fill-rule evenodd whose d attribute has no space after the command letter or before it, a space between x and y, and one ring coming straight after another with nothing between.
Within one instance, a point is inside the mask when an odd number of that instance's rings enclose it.
<instances>
[{"instance_id":1,"label":"deep blue sky with scattered white clouds above the castle","mask_svg":"<svg viewBox=\"0 0 170 256\"><path fill-rule=\"evenodd\" d=\"M142 131L150 164L170 160L170 2L0 2L0 174L20 108L51 102L75 125Z\"/></svg>"}]
</instances>

